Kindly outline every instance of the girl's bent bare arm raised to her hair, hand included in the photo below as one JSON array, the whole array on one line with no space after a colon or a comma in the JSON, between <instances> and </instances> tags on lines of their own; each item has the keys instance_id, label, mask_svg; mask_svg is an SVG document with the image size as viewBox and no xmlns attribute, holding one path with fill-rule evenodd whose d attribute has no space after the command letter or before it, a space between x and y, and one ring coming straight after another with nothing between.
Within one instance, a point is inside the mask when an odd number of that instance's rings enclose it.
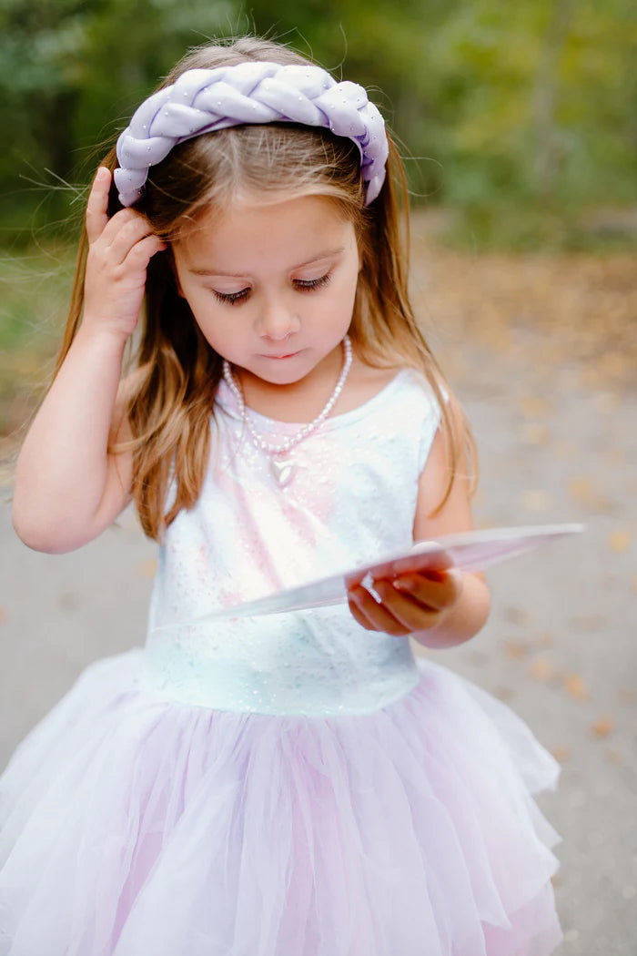
<instances>
[{"instance_id":1,"label":"girl's bent bare arm raised to her hair, hand included","mask_svg":"<svg viewBox=\"0 0 637 956\"><path fill-rule=\"evenodd\" d=\"M62 553L96 537L131 488L130 454L108 454L130 437L117 408L128 337L134 331L150 257L164 248L132 209L106 214L111 175L101 168L86 224L89 253L81 327L20 452L13 525L29 547Z\"/></svg>"}]
</instances>

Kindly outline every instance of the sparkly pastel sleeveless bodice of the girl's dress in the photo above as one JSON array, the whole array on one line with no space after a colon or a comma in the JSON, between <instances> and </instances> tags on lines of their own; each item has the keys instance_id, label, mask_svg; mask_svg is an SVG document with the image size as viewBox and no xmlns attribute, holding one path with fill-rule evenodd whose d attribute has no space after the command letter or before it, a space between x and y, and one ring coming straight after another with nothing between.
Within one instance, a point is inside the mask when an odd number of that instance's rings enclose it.
<instances>
[{"instance_id":1,"label":"sparkly pastel sleeveless bodice of the girl's dress","mask_svg":"<svg viewBox=\"0 0 637 956\"><path fill-rule=\"evenodd\" d=\"M300 427L250 414L272 444ZM431 387L404 369L297 445L280 488L222 381L202 494L159 549L145 689L222 710L308 715L365 713L412 690L409 641L365 630L347 604L184 621L409 547L438 421Z\"/></svg>"}]
</instances>

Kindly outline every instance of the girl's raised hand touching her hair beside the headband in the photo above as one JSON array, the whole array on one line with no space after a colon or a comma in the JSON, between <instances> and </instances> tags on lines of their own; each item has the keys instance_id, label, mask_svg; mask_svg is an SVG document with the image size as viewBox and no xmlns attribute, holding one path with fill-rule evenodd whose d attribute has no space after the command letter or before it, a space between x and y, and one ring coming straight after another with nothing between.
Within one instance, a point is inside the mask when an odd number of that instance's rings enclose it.
<instances>
[{"instance_id":1,"label":"girl's raised hand touching her hair beside the headband","mask_svg":"<svg viewBox=\"0 0 637 956\"><path fill-rule=\"evenodd\" d=\"M138 323L148 263L166 244L134 209L122 209L109 219L111 179L110 171L100 166L86 209L83 325L126 339Z\"/></svg>"}]
</instances>

